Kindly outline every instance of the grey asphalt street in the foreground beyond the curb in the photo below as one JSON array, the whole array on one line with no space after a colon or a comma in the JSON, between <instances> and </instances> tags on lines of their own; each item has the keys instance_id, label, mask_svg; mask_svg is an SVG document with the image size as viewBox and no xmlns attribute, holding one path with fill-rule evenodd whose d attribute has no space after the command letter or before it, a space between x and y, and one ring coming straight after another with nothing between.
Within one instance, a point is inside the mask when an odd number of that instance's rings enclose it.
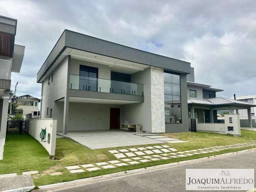
<instances>
[{"instance_id":1,"label":"grey asphalt street in the foreground beyond the curb","mask_svg":"<svg viewBox=\"0 0 256 192\"><path fill-rule=\"evenodd\" d=\"M184 192L187 168L256 168L256 152L58 190L59 192ZM254 178L255 179L255 178Z\"/></svg>"}]
</instances>

